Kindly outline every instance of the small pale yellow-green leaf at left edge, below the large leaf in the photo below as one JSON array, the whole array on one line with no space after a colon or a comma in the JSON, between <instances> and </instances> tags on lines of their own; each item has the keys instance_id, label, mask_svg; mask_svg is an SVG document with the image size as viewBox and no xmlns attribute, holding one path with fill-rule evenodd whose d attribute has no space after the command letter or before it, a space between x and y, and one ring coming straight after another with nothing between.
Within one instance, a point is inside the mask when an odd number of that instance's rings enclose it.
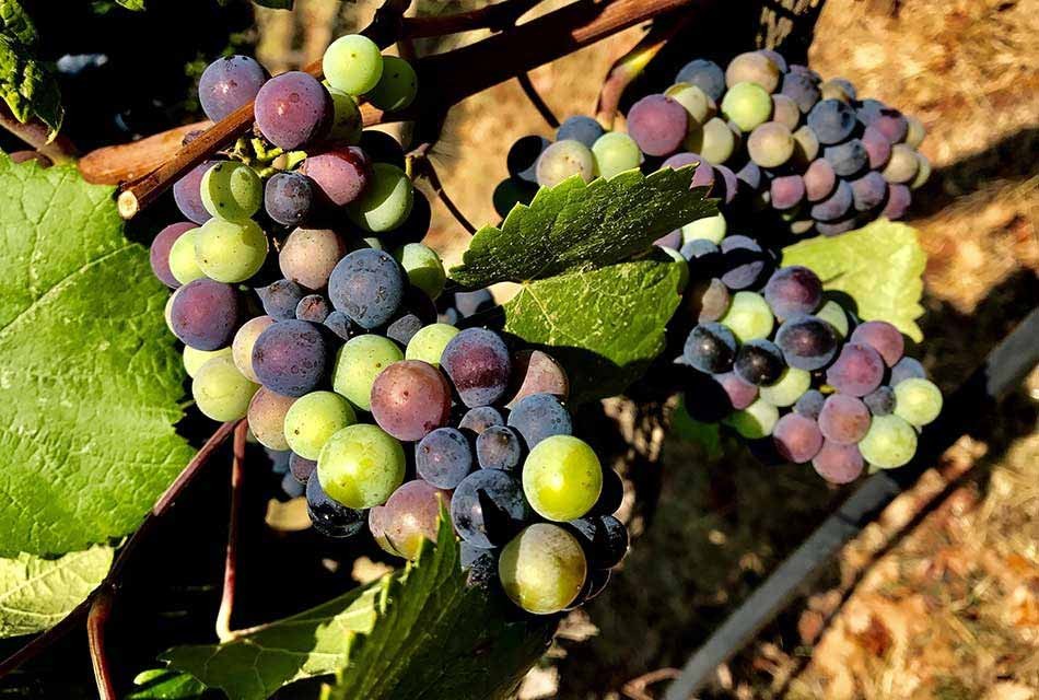
<instances>
[{"instance_id":1,"label":"small pale yellow-green leaf at left edge, below the large leaf","mask_svg":"<svg viewBox=\"0 0 1039 700\"><path fill-rule=\"evenodd\" d=\"M108 573L112 553L97 545L57 559L0 559L0 638L40 632L71 612Z\"/></svg>"}]
</instances>

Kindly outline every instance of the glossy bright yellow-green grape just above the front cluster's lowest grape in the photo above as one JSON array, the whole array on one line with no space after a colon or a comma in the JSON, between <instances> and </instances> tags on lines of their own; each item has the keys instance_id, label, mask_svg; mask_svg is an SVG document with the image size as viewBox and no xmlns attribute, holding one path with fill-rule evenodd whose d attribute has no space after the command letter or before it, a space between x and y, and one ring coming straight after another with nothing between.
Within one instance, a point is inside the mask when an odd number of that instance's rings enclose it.
<instances>
[{"instance_id":1,"label":"glossy bright yellow-green grape just above the front cluster's lowest grape","mask_svg":"<svg viewBox=\"0 0 1039 700\"><path fill-rule=\"evenodd\" d=\"M584 516L603 490L603 465L588 443L552 435L534 446L523 463L523 492L530 508L550 521Z\"/></svg>"}]
</instances>

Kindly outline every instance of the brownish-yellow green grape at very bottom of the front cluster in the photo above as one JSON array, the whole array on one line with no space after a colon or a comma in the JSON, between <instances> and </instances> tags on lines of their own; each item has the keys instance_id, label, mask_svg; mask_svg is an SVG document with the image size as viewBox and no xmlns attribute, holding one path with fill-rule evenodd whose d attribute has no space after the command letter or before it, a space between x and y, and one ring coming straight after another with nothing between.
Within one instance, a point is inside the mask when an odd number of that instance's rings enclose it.
<instances>
[{"instance_id":1,"label":"brownish-yellow green grape at very bottom of the front cluster","mask_svg":"<svg viewBox=\"0 0 1039 700\"><path fill-rule=\"evenodd\" d=\"M581 593L588 562L577 538L558 525L528 525L502 549L498 576L509 598L527 612L551 615Z\"/></svg>"}]
</instances>

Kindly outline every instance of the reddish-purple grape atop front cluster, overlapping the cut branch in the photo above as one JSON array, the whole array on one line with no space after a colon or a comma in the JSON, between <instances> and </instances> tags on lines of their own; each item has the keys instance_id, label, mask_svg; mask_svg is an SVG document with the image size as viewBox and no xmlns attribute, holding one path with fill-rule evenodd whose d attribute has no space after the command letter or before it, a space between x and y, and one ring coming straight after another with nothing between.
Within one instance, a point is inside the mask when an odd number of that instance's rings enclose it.
<instances>
[{"instance_id":1,"label":"reddish-purple grape atop front cluster, overlapping the cut branch","mask_svg":"<svg viewBox=\"0 0 1039 700\"><path fill-rule=\"evenodd\" d=\"M323 136L331 120L331 96L313 75L289 71L260 88L254 112L260 133L291 151Z\"/></svg>"}]
</instances>

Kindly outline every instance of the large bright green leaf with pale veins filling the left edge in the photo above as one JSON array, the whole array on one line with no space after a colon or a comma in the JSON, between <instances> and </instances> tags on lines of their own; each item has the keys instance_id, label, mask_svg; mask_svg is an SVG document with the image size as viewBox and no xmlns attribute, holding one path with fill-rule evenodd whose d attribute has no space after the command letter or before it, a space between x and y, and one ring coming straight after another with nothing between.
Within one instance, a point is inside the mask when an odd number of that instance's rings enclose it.
<instances>
[{"instance_id":1,"label":"large bright green leaf with pale veins filling the left edge","mask_svg":"<svg viewBox=\"0 0 1039 700\"><path fill-rule=\"evenodd\" d=\"M126 535L191 456L167 294L113 194L0 153L0 556Z\"/></svg>"}]
</instances>

